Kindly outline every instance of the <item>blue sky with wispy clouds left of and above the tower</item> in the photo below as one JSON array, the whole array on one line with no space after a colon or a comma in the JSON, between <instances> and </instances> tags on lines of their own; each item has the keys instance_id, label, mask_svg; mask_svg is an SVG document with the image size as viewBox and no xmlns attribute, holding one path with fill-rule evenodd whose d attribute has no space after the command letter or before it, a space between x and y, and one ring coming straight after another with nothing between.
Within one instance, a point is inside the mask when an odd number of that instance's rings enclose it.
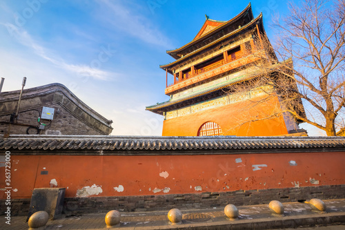
<instances>
[{"instance_id":1,"label":"blue sky with wispy clouds left of and above the tower","mask_svg":"<svg viewBox=\"0 0 345 230\"><path fill-rule=\"evenodd\" d=\"M251 1L254 16L284 15L286 1ZM163 117L145 106L168 100L165 72L172 50L205 21L227 21L248 1L0 0L3 91L59 82L113 120L112 135L161 135ZM316 132L315 135L318 133Z\"/></svg>"}]
</instances>

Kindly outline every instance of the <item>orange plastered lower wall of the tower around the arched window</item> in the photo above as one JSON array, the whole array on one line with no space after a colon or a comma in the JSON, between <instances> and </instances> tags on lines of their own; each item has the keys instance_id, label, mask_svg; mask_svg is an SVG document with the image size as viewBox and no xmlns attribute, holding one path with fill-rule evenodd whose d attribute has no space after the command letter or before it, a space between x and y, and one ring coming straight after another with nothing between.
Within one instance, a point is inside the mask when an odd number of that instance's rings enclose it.
<instances>
[{"instance_id":1,"label":"orange plastered lower wall of the tower around the arched window","mask_svg":"<svg viewBox=\"0 0 345 230\"><path fill-rule=\"evenodd\" d=\"M263 97L255 98L260 101ZM253 102L238 102L206 111L166 119L163 123L163 136L196 136L200 126L205 122L216 122L221 126L223 135L237 136L274 136L284 135L288 131L284 117L266 118L273 113L279 113L277 97L270 97L266 102L253 106ZM248 122L248 121L254 122Z\"/></svg>"}]
</instances>

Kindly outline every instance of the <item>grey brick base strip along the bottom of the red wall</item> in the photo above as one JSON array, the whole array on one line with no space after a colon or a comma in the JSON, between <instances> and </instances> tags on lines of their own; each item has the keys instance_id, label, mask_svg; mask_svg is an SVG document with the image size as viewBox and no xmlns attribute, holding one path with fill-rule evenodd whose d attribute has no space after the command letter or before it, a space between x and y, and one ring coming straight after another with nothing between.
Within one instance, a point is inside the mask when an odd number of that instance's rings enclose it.
<instances>
[{"instance_id":1,"label":"grey brick base strip along the bottom of the red wall","mask_svg":"<svg viewBox=\"0 0 345 230\"><path fill-rule=\"evenodd\" d=\"M328 186L308 186L302 188L255 189L248 191L228 191L217 193L188 193L169 195L132 195L92 198L65 198L63 213L106 213L116 209L119 211L157 211L178 209L212 209L225 207L226 204L236 206L268 204L271 200L280 202L297 202L297 200L322 200L345 198L345 184ZM6 205L0 200L1 215ZM30 199L12 200L12 215L28 215Z\"/></svg>"}]
</instances>

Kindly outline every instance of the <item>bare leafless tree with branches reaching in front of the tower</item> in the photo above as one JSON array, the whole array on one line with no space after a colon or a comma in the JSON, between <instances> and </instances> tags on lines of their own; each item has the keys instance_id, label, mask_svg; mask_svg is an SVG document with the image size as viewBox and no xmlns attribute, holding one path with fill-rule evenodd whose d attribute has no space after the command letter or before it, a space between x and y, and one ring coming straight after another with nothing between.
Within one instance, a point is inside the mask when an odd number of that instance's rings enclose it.
<instances>
[{"instance_id":1,"label":"bare leafless tree with branches reaching in front of the tower","mask_svg":"<svg viewBox=\"0 0 345 230\"><path fill-rule=\"evenodd\" d=\"M260 43L250 55L261 59L255 73L248 71L255 78L229 89L238 94L270 86L274 90L262 91L266 97L250 106L278 95L281 108L260 119L288 113L334 136L345 117L345 1L304 0L300 6L289 3L289 10L274 20L274 51L266 37L256 39Z\"/></svg>"}]
</instances>

